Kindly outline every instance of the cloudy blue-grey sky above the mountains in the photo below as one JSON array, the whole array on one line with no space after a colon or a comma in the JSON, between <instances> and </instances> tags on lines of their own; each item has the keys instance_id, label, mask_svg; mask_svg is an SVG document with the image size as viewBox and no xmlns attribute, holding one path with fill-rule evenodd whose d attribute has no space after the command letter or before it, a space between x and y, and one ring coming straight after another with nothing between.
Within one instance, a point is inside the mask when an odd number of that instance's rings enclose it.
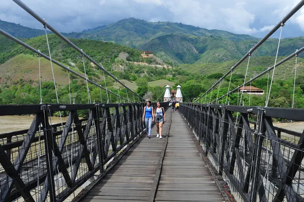
<instances>
[{"instance_id":1,"label":"cloudy blue-grey sky above the mountains","mask_svg":"<svg viewBox=\"0 0 304 202\"><path fill-rule=\"evenodd\" d=\"M263 37L300 0L23 0L57 30L84 29L135 17L146 21L171 21L207 29ZM12 0L0 1L0 19L42 28ZM276 32L273 37L278 38ZM283 29L283 38L304 36L304 8Z\"/></svg>"}]
</instances>

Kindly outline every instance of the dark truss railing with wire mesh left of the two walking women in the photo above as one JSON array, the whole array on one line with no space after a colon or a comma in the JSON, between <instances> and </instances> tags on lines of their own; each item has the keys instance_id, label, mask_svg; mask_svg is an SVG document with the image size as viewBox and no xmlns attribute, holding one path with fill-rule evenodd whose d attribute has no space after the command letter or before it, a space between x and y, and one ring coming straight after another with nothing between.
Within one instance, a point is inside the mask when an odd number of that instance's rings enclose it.
<instances>
[{"instance_id":1,"label":"dark truss railing with wire mesh left of the two walking women","mask_svg":"<svg viewBox=\"0 0 304 202\"><path fill-rule=\"evenodd\" d=\"M143 107L0 106L0 116L35 115L27 130L0 131L0 201L63 201L94 174L104 174L113 157L141 137ZM78 115L83 110L89 113L86 119ZM58 111L68 114L67 121L52 125L51 116Z\"/></svg>"}]
</instances>

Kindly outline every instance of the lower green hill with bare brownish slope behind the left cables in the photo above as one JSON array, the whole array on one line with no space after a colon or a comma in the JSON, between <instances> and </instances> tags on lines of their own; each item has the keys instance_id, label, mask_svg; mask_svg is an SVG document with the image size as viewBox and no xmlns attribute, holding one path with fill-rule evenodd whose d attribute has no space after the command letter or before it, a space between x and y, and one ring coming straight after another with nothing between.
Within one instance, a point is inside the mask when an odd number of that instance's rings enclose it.
<instances>
[{"instance_id":1,"label":"lower green hill with bare brownish slope behind the left cables","mask_svg":"<svg viewBox=\"0 0 304 202\"><path fill-rule=\"evenodd\" d=\"M52 58L68 66L73 71L84 75L84 66L80 53L54 34L48 35L48 39ZM87 39L70 40L82 48L95 61L102 64L107 71L126 82L135 81L140 77L144 77L147 80L146 82L153 82L159 79L166 79L167 75L177 74L175 69L172 69L160 58L154 55L144 55L142 51L134 48ZM45 36L23 39L23 41L49 55ZM4 45L0 46L0 86L1 84L12 85L20 80L36 81L38 71L36 54L4 36L0 36L0 44ZM95 82L103 83L103 72L88 59L85 58L84 62L88 77ZM41 59L42 70L47 71L45 72L46 74L42 74L44 81L52 79L50 77L52 74L49 72L49 64L46 59ZM59 80L58 83L66 85L68 81L66 79L67 71L56 65L54 65L54 70ZM108 80L111 79L108 78ZM113 81L109 81L109 86L114 84ZM137 87L135 84L132 85L134 88Z\"/></svg>"}]
</instances>

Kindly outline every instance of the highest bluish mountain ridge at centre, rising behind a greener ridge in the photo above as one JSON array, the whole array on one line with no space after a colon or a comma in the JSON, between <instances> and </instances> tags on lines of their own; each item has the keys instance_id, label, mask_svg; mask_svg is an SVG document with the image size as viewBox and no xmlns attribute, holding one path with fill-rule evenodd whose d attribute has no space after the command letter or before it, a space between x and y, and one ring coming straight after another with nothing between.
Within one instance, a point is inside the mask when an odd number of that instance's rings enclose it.
<instances>
[{"instance_id":1,"label":"highest bluish mountain ridge at centre, rising behind a greener ridge","mask_svg":"<svg viewBox=\"0 0 304 202\"><path fill-rule=\"evenodd\" d=\"M145 20L127 18L106 26L85 30L81 33L68 33L66 36L76 39L94 39L110 41L129 47L139 48L143 44L160 36L190 35L217 36L233 41L255 40L249 35L237 35L228 31L209 30L192 25L175 22L147 22Z\"/></svg>"}]
</instances>

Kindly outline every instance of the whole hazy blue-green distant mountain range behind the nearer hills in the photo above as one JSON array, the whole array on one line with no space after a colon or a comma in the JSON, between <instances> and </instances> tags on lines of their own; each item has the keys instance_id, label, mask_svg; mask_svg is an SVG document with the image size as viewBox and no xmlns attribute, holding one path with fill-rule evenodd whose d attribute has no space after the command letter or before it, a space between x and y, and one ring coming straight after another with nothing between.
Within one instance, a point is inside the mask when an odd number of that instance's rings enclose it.
<instances>
[{"instance_id":1,"label":"whole hazy blue-green distant mountain range behind the nearer hills","mask_svg":"<svg viewBox=\"0 0 304 202\"><path fill-rule=\"evenodd\" d=\"M0 25L6 31L11 30L10 32L17 37L28 38L31 33L39 35L44 32L44 30L31 29L5 21L0 21ZM182 23L147 22L135 18L123 19L80 33L64 33L64 35L74 39L106 41L140 50L149 50L166 63L175 65L240 59L259 41L249 35L208 30ZM252 56L275 56L277 45L278 39L268 39ZM289 55L303 45L304 38L302 37L283 39L279 56ZM3 58L0 58L0 62L1 60Z\"/></svg>"}]
</instances>

